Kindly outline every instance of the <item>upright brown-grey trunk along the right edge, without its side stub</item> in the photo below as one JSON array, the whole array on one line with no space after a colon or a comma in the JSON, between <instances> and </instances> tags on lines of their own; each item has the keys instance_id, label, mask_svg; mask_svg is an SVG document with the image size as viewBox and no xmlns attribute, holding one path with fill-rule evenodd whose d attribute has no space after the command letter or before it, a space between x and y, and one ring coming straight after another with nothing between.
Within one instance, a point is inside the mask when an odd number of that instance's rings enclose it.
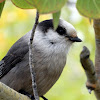
<instances>
[{"instance_id":1,"label":"upright brown-grey trunk along the right edge, without its side stub","mask_svg":"<svg viewBox=\"0 0 100 100\"><path fill-rule=\"evenodd\" d=\"M94 30L95 30L95 71L97 74L97 88L95 89L95 95L98 100L100 100L100 19L94 19Z\"/></svg>"}]
</instances>

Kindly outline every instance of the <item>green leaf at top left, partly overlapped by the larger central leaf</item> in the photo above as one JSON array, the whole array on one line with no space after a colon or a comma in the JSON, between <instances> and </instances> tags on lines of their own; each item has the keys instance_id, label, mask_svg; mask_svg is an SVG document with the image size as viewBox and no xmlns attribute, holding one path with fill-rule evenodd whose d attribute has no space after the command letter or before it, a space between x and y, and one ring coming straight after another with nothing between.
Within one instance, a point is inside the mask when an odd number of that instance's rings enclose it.
<instances>
[{"instance_id":1,"label":"green leaf at top left, partly overlapped by the larger central leaf","mask_svg":"<svg viewBox=\"0 0 100 100\"><path fill-rule=\"evenodd\" d=\"M35 7L30 3L33 0L12 0L13 4L22 9L34 9Z\"/></svg>"}]
</instances>

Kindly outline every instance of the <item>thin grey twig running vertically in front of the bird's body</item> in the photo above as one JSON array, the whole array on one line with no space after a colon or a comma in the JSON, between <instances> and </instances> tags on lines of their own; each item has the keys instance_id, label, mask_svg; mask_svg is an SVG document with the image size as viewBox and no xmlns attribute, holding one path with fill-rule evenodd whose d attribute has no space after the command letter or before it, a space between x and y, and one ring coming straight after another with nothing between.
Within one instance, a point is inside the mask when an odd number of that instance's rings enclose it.
<instances>
[{"instance_id":1,"label":"thin grey twig running vertically in front of the bird's body","mask_svg":"<svg viewBox=\"0 0 100 100\"><path fill-rule=\"evenodd\" d=\"M36 84L36 80L35 80L35 71L34 71L34 65L33 65L32 43L33 43L33 39L34 39L35 29L38 25L38 19L39 19L39 13L37 11L35 24L34 24L34 27L32 29L30 43L29 43L29 65L30 65L30 72L31 72L31 78L32 78L32 88L33 88L35 100L39 100L39 96L38 96L38 91L37 91L37 84Z\"/></svg>"}]
</instances>

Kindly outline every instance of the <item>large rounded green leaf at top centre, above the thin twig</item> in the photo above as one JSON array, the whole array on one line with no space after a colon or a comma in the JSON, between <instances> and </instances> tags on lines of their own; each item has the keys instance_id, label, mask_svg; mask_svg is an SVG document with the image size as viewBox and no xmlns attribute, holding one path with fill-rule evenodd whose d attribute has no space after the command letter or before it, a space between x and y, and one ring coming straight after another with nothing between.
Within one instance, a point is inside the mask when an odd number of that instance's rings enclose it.
<instances>
[{"instance_id":1,"label":"large rounded green leaf at top centre, above the thin twig","mask_svg":"<svg viewBox=\"0 0 100 100\"><path fill-rule=\"evenodd\" d=\"M61 8L67 2L67 0L33 0L33 1L34 1L34 6L41 14L57 12L61 10Z\"/></svg>"}]
</instances>

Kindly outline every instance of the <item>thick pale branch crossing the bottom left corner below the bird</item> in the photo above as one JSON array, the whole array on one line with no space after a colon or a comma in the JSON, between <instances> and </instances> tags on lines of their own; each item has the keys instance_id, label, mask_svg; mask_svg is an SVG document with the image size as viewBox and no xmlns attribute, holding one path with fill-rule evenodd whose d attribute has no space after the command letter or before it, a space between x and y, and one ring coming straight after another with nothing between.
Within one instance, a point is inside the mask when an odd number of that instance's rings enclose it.
<instances>
[{"instance_id":1,"label":"thick pale branch crossing the bottom left corner below the bird","mask_svg":"<svg viewBox=\"0 0 100 100\"><path fill-rule=\"evenodd\" d=\"M31 100L0 82L0 100Z\"/></svg>"}]
</instances>

